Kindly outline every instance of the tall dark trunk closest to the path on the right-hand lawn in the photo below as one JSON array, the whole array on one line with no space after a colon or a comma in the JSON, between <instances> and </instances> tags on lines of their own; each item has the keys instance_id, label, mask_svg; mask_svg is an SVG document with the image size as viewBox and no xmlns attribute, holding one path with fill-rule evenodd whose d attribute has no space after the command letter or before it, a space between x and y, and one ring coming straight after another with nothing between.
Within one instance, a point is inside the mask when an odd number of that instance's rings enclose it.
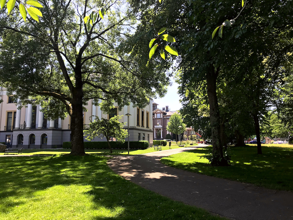
<instances>
[{"instance_id":1,"label":"tall dark trunk closest to the path on the right-hand lawn","mask_svg":"<svg viewBox=\"0 0 293 220\"><path fill-rule=\"evenodd\" d=\"M213 166L228 166L227 160L223 157L223 146L220 140L220 114L219 104L217 99L217 73L214 71L214 66L210 65L207 72L207 96L209 99L209 118L212 127L212 144L213 144Z\"/></svg>"}]
</instances>

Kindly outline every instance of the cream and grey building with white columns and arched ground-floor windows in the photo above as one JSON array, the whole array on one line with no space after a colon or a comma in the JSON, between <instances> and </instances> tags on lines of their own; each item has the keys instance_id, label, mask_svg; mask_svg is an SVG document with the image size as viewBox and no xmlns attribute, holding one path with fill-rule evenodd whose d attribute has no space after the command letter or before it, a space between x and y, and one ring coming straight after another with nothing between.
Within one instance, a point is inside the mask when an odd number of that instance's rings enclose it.
<instances>
[{"instance_id":1,"label":"cream and grey building with white columns and arched ground-floor windows","mask_svg":"<svg viewBox=\"0 0 293 220\"><path fill-rule=\"evenodd\" d=\"M64 120L60 118L47 120L40 111L41 106L33 106L32 104L17 109L13 97L6 95L5 89L3 89L2 99L3 102L0 104L0 142L4 142L8 147L60 148L63 142L71 141L69 116ZM109 119L114 115L129 113L131 114L129 116L129 140L146 140L150 144L153 143L153 123L150 119L152 99L144 109L133 107L130 104L118 111L116 106L110 114L101 111L100 107L93 105L91 100L85 107L87 111L84 112L84 125L89 124L96 117ZM122 116L120 122L126 122L124 128L127 129L127 116ZM84 139L84 141L87 140ZM106 141L106 138L95 138L92 141Z\"/></svg>"}]
</instances>

